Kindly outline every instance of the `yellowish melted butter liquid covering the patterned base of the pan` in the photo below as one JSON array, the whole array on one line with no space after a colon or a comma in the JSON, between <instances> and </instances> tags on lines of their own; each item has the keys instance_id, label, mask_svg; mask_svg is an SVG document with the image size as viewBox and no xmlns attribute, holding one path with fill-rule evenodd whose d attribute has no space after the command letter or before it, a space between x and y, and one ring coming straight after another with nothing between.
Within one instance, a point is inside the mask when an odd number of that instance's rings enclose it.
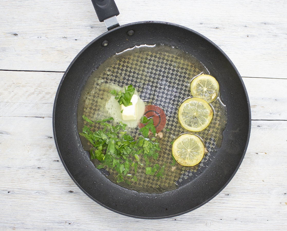
<instances>
[{"instance_id":1,"label":"yellowish melted butter liquid covering the patterned base of the pan","mask_svg":"<svg viewBox=\"0 0 287 231\"><path fill-rule=\"evenodd\" d=\"M161 150L154 164L165 164L164 178L145 174L145 166L138 166L137 181L117 183L117 172L107 169L107 176L112 182L130 190L144 193L163 193L187 184L207 168L216 156L222 143L222 132L227 121L226 107L218 98L210 103L214 116L210 125L201 132L185 130L178 120L178 109L191 97L190 83L197 75L210 74L205 66L195 57L183 50L167 45L142 45L125 50L108 58L94 70L82 89L77 108L77 127L82 132L84 120L82 115L96 121L109 118L106 110L113 86L135 87L145 105L157 105L166 115L166 125L158 138ZM97 129L97 128L95 128ZM139 127L128 129L133 137L139 135ZM205 146L205 154L201 162L193 167L179 165L172 158L172 142L181 134L195 134L201 138ZM92 148L88 141L80 136L84 150ZM98 160L92 160L98 165ZM134 175L131 168L130 174Z\"/></svg>"}]
</instances>

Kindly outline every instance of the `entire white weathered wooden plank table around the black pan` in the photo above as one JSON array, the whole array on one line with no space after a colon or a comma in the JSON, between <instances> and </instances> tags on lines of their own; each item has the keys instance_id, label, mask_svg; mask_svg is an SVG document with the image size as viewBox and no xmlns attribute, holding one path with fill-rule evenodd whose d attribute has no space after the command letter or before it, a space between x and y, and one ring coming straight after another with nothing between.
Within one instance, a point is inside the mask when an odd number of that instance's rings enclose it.
<instances>
[{"instance_id":1,"label":"entire white weathered wooden plank table around the black pan","mask_svg":"<svg viewBox=\"0 0 287 231\"><path fill-rule=\"evenodd\" d=\"M65 171L52 130L69 63L106 31L90 0L0 0L0 230L286 230L287 1L116 0L121 25L191 28L232 60L252 128L230 183L187 214L141 220L86 196Z\"/></svg>"}]
</instances>

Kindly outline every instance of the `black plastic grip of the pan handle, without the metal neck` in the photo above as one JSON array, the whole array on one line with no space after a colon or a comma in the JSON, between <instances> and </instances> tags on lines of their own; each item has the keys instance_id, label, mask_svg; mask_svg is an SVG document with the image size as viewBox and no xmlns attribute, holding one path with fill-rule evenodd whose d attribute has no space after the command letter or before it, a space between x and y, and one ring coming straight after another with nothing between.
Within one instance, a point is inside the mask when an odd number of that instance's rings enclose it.
<instances>
[{"instance_id":1,"label":"black plastic grip of the pan handle, without the metal neck","mask_svg":"<svg viewBox=\"0 0 287 231\"><path fill-rule=\"evenodd\" d=\"M120 14L114 0L92 0L92 3L100 22Z\"/></svg>"}]
</instances>

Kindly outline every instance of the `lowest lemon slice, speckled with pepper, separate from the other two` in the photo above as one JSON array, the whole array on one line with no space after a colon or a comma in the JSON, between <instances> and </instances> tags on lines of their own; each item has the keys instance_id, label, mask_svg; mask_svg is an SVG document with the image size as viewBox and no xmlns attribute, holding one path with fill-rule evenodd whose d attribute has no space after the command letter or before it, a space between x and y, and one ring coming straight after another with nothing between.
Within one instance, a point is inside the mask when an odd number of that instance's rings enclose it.
<instances>
[{"instance_id":1,"label":"lowest lemon slice, speckled with pepper, separate from the other two","mask_svg":"<svg viewBox=\"0 0 287 231\"><path fill-rule=\"evenodd\" d=\"M195 135L183 134L172 144L172 155L177 163L183 166L197 165L203 154L204 145Z\"/></svg>"}]
</instances>

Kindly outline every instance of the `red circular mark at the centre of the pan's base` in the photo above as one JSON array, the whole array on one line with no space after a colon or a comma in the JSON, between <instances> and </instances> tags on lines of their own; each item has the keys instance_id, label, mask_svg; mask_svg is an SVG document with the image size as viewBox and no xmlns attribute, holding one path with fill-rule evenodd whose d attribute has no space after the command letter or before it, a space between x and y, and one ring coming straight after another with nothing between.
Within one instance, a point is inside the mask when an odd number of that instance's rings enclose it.
<instances>
[{"instance_id":1,"label":"red circular mark at the centre of the pan's base","mask_svg":"<svg viewBox=\"0 0 287 231\"><path fill-rule=\"evenodd\" d=\"M159 106L147 105L144 115L146 118L152 118L154 120L154 127L156 128L156 132L160 132L164 128L166 123L166 115ZM139 128L142 127L144 127L144 124L139 123Z\"/></svg>"}]
</instances>

